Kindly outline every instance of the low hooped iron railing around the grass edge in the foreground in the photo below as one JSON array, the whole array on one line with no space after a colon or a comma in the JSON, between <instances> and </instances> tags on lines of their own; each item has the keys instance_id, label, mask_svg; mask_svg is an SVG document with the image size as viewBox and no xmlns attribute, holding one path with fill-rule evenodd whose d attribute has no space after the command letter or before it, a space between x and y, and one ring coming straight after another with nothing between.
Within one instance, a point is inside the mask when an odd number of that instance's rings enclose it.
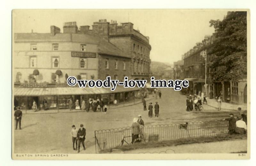
<instances>
[{"instance_id":1,"label":"low hooped iron railing around the grass edge in the foreground","mask_svg":"<svg viewBox=\"0 0 256 166\"><path fill-rule=\"evenodd\" d=\"M145 125L141 130L146 142L216 136L228 132L228 121L226 120L188 122L187 129L179 126L180 124ZM100 150L119 146L124 136L126 142L132 142L132 137L129 137L132 135L131 127L96 130L94 134L96 153L99 153ZM127 144L126 142L124 145Z\"/></svg>"}]
</instances>

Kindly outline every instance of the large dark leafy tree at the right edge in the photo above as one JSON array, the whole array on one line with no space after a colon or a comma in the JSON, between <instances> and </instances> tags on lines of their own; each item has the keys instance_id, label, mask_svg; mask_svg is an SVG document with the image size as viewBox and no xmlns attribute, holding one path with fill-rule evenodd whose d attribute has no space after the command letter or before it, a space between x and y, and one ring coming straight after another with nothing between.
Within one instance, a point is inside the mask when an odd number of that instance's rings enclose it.
<instances>
[{"instance_id":1,"label":"large dark leafy tree at the right edge","mask_svg":"<svg viewBox=\"0 0 256 166\"><path fill-rule=\"evenodd\" d=\"M238 80L247 77L246 11L231 11L222 20L211 20L215 28L215 45L209 54L215 55L213 79Z\"/></svg>"}]
</instances>

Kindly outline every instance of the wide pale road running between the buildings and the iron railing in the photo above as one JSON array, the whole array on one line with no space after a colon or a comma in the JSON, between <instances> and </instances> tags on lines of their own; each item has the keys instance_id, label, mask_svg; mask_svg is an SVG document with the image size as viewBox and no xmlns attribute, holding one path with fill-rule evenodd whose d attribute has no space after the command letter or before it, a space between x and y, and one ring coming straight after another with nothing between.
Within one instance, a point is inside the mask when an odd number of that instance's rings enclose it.
<instances>
[{"instance_id":1,"label":"wide pale road running between the buildings and the iron railing","mask_svg":"<svg viewBox=\"0 0 256 166\"><path fill-rule=\"evenodd\" d=\"M94 131L126 127L132 124L132 119L139 114L145 125L171 124L186 121L208 121L223 119L228 112L204 105L204 112L186 112L186 97L179 91L163 89L161 99L150 100L160 105L159 117L148 117L148 111L143 111L142 104L102 112L70 112L54 114L26 114L22 117L22 130L14 132L14 153L77 153L72 149L70 136L71 126L81 123L86 128L86 147L80 153L95 153ZM150 102L147 102L148 103Z\"/></svg>"}]
</instances>

